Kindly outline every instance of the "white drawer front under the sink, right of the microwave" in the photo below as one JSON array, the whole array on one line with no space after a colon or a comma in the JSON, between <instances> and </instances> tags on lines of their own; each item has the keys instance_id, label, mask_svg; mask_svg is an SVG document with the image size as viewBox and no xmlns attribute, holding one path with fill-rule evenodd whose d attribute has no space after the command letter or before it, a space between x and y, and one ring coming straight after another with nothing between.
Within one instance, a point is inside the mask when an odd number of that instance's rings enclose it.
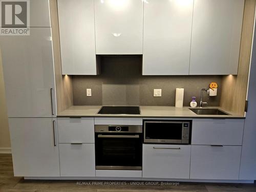
<instances>
[{"instance_id":1,"label":"white drawer front under the sink, right of the microwave","mask_svg":"<svg viewBox=\"0 0 256 192\"><path fill-rule=\"evenodd\" d=\"M244 119L194 119L191 144L242 145Z\"/></svg>"}]
</instances>

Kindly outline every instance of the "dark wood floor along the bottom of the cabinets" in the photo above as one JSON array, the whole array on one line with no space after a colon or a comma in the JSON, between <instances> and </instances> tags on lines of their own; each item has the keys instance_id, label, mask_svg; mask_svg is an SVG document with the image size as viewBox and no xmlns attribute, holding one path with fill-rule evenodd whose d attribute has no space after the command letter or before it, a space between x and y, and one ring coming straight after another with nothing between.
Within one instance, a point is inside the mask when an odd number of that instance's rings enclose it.
<instances>
[{"instance_id":1,"label":"dark wood floor along the bottom of the cabinets","mask_svg":"<svg viewBox=\"0 0 256 192\"><path fill-rule=\"evenodd\" d=\"M184 183L178 186L167 185L86 185L77 184L78 181L49 181L24 180L13 177L11 155L0 154L0 192L256 192L256 184L212 184L212 183ZM83 181L86 182L86 181ZM90 181L92 182L92 181Z\"/></svg>"}]
</instances>

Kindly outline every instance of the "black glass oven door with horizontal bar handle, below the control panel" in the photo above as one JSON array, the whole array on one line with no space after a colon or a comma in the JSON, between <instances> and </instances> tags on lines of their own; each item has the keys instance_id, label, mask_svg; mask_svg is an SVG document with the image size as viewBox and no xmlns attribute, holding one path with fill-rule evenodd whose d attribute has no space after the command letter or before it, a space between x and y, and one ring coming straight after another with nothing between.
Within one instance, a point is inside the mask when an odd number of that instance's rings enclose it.
<instances>
[{"instance_id":1,"label":"black glass oven door with horizontal bar handle, below the control panel","mask_svg":"<svg viewBox=\"0 0 256 192\"><path fill-rule=\"evenodd\" d=\"M95 133L96 169L142 170L141 133Z\"/></svg>"}]
</instances>

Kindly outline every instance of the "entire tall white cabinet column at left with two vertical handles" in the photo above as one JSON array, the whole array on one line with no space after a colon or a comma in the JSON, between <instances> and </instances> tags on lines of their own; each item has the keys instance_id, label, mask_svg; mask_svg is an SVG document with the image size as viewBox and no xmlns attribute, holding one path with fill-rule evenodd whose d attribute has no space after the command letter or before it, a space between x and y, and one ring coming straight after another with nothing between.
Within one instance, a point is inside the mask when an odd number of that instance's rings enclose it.
<instances>
[{"instance_id":1,"label":"entire tall white cabinet column at left with two vertical handles","mask_svg":"<svg viewBox=\"0 0 256 192\"><path fill-rule=\"evenodd\" d=\"M30 1L30 8L29 36L0 36L14 176L56 177L59 157L49 1Z\"/></svg>"}]
</instances>

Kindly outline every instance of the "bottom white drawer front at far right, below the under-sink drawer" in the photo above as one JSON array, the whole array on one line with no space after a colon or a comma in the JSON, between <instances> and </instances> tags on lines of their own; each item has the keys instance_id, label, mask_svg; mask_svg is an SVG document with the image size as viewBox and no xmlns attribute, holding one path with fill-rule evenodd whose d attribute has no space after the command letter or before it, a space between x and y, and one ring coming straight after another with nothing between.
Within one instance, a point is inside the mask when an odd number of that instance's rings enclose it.
<instances>
[{"instance_id":1,"label":"bottom white drawer front at far right, below the under-sink drawer","mask_svg":"<svg viewBox=\"0 0 256 192\"><path fill-rule=\"evenodd\" d=\"M242 146L191 146L190 179L238 180Z\"/></svg>"}]
</instances>

